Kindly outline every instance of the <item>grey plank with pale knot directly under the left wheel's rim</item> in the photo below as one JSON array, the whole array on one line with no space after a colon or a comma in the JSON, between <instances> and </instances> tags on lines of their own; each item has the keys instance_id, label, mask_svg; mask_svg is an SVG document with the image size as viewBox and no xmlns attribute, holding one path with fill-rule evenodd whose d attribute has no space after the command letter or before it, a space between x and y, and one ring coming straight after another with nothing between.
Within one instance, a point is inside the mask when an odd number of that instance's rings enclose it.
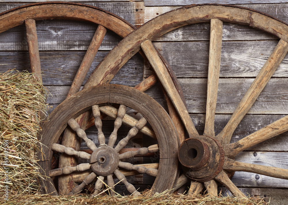
<instances>
[{"instance_id":1,"label":"grey plank with pale knot directly under the left wheel's rim","mask_svg":"<svg viewBox=\"0 0 288 205\"><path fill-rule=\"evenodd\" d=\"M87 50L97 25L71 20L36 21L39 50ZM0 50L27 50L25 26L20 25L0 33ZM99 50L111 50L121 40L107 31Z\"/></svg>"}]
</instances>

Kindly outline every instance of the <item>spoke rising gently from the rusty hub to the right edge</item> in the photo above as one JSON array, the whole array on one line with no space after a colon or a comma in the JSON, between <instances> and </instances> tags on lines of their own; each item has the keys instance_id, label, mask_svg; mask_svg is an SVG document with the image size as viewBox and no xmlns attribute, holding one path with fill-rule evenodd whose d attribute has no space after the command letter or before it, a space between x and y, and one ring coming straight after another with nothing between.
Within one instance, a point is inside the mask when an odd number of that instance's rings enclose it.
<instances>
[{"instance_id":1,"label":"spoke rising gently from the rusty hub to the right edge","mask_svg":"<svg viewBox=\"0 0 288 205\"><path fill-rule=\"evenodd\" d=\"M233 158L239 152L288 131L288 115L232 144L223 146L226 156Z\"/></svg>"}]
</instances>

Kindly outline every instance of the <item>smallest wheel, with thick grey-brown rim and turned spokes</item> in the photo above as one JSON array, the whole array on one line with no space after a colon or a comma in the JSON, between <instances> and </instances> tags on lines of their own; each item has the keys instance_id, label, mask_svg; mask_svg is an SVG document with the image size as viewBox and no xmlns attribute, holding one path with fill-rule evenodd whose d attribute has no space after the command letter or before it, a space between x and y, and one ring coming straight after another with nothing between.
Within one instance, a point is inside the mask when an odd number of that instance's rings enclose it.
<instances>
[{"instance_id":1,"label":"smallest wheel, with thick grey-brown rim and turned spokes","mask_svg":"<svg viewBox=\"0 0 288 205\"><path fill-rule=\"evenodd\" d=\"M107 104L120 104L119 109ZM142 118L137 120L126 113L127 107L137 110L142 114ZM98 129L97 147L95 143L88 139L86 133L80 128L75 121L75 117L88 109L92 108L92 113L95 118L95 126ZM109 110L109 112L107 112ZM105 140L102 132L101 113L105 113L112 118L115 118L114 130L111 133L109 140ZM152 129L146 126L149 122ZM126 124L130 127L127 136L121 139L116 146L114 146L117 131L121 124ZM65 147L56 144L60 134L69 125L77 136L83 139L92 154L82 151L76 151L71 147ZM52 128L52 129L51 129ZM158 144L149 147L140 148L137 151L125 152L122 150L128 141L134 137L138 131L147 134L150 137L157 138ZM70 98L63 101L50 114L50 120L45 122L42 126L42 131L39 133L42 136L43 143L41 158L46 156L46 176L54 177L58 175L72 175L77 181L83 181L76 186L69 194L76 194L82 191L84 186L92 183L96 177L94 195L97 195L102 189L103 181L107 177L107 185L114 188L113 175L126 185L127 190L134 195L140 193L135 187L128 183L125 175L147 174L156 177L152 186L152 190L162 192L172 189L178 179L178 136L175 127L168 116L167 112L151 97L145 93L123 85L101 85L82 90ZM73 140L73 139L72 139ZM78 164L77 166L61 167L50 170L52 151L65 153L67 155L74 155L82 159L89 160L88 163ZM128 162L123 162L124 159L134 157L135 155L143 156L148 153L160 151L160 162L153 164L133 165ZM122 154L121 154L122 153ZM126 170L126 171L125 171ZM78 173L77 173L78 172ZM55 190L51 178L43 181L45 187L49 190ZM113 195L113 191L110 192Z\"/></svg>"}]
</instances>

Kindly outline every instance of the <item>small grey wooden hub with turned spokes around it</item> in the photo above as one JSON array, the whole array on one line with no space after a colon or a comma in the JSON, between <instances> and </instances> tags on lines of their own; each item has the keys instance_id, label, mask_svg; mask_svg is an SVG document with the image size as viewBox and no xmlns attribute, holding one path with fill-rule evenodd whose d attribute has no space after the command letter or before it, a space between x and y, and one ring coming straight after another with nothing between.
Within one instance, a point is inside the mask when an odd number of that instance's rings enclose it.
<instances>
[{"instance_id":1,"label":"small grey wooden hub with turned spokes around it","mask_svg":"<svg viewBox=\"0 0 288 205\"><path fill-rule=\"evenodd\" d=\"M112 174L119 164L119 154L113 147L100 146L91 154L90 164L92 171L98 176Z\"/></svg>"}]
</instances>

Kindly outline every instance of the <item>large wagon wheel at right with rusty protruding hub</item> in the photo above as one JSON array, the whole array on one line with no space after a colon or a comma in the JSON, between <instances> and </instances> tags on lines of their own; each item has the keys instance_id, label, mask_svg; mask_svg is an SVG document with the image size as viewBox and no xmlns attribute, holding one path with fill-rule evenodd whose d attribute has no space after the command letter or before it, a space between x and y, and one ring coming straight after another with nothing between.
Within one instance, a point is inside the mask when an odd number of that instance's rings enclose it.
<instances>
[{"instance_id":1,"label":"large wagon wheel at right with rusty protruding hub","mask_svg":"<svg viewBox=\"0 0 288 205\"><path fill-rule=\"evenodd\" d=\"M225 128L215 136L214 119L223 21L244 24L264 30L279 37L280 41L238 104ZM181 100L178 90L175 89L170 76L171 71L168 72L166 70L164 60L158 56L158 51L151 42L175 28L200 22L211 22L206 122L203 135L199 135L196 131L185 108L185 104ZM192 179L192 181L190 180L189 193L198 194L205 187L211 196L216 196L218 181L225 185L235 196L245 197L230 180L234 171L246 171L288 179L288 171L285 169L234 160L234 157L239 152L288 131L287 116L235 143L229 144L231 136L239 122L254 104L268 80L285 57L288 51L287 42L287 24L266 14L230 5L190 5L157 16L132 32L111 50L103 62L98 65L97 73L93 73L90 79L93 79L93 76L97 75L102 78L97 83L111 81L111 76L105 75L106 68L109 67L109 70L112 72L117 72L134 53L142 48L189 135L189 139L185 140L179 149L179 160L182 163L185 174L179 178L175 188L177 189L189 181L187 179L189 177ZM88 80L86 86L91 86L94 83Z\"/></svg>"}]
</instances>

